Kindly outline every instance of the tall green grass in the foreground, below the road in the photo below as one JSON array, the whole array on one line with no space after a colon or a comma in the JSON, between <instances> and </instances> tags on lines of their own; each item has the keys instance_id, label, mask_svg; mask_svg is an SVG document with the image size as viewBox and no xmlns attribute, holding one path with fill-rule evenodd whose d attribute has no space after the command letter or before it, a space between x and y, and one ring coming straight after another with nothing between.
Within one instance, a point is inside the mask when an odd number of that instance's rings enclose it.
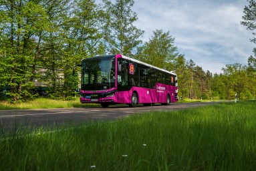
<instances>
[{"instance_id":1,"label":"tall green grass in the foreground, below the road","mask_svg":"<svg viewBox=\"0 0 256 171\"><path fill-rule=\"evenodd\" d=\"M255 102L1 132L0 170L255 170Z\"/></svg>"}]
</instances>

